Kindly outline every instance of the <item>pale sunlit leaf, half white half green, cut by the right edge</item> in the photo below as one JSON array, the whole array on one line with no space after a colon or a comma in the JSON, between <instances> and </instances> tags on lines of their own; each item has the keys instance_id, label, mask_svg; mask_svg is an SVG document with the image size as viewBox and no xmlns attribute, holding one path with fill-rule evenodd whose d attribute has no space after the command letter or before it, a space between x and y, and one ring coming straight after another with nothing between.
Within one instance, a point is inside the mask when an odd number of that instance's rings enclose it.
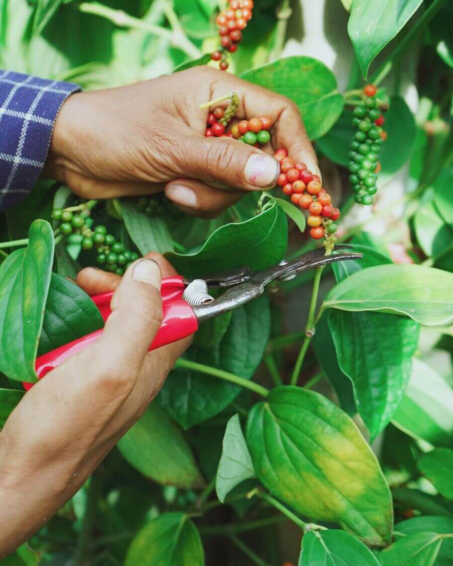
<instances>
[{"instance_id":1,"label":"pale sunlit leaf, half white half green, cut by the right edge","mask_svg":"<svg viewBox=\"0 0 453 566\"><path fill-rule=\"evenodd\" d=\"M392 422L416 439L453 446L453 392L441 376L417 358Z\"/></svg>"}]
</instances>

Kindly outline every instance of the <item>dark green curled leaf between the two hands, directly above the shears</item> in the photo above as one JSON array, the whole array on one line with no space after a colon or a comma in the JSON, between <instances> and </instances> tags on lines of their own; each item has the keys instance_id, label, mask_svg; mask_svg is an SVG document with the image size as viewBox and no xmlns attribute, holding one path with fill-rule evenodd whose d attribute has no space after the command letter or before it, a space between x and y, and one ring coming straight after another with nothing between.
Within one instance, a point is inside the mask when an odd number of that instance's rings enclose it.
<instances>
[{"instance_id":1,"label":"dark green curled leaf between the two hands, directly above the shears","mask_svg":"<svg viewBox=\"0 0 453 566\"><path fill-rule=\"evenodd\" d=\"M166 254L178 273L203 277L207 273L247 265L259 270L283 258L288 245L285 213L274 205L260 215L217 229L195 254Z\"/></svg>"}]
</instances>

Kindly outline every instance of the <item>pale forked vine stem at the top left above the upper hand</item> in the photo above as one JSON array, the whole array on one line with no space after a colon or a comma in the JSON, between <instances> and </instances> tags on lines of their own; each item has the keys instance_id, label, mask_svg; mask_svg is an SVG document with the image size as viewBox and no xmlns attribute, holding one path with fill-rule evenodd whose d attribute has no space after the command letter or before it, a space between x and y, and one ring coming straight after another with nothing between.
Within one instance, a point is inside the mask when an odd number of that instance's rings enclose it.
<instances>
[{"instance_id":1,"label":"pale forked vine stem at the top left above the upper hand","mask_svg":"<svg viewBox=\"0 0 453 566\"><path fill-rule=\"evenodd\" d=\"M139 18L134 18L134 16L127 14L123 10L113 10L113 8L104 6L104 4L100 2L82 2L79 6L79 10L84 14L101 16L101 18L105 18L119 27L143 29L153 35L163 37L168 40L173 47L180 49L193 59L197 59L202 55L198 47L186 36L178 21L177 15L174 13L173 8L169 6L168 2L164 4L164 11L172 29L166 29L161 25L144 22Z\"/></svg>"}]
</instances>

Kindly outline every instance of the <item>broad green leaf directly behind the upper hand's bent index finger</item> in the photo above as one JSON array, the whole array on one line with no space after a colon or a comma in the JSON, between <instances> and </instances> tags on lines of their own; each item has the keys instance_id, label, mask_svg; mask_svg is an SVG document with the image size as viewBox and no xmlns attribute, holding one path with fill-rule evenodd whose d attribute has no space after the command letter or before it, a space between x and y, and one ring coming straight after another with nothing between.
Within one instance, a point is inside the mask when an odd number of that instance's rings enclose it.
<instances>
[{"instance_id":1,"label":"broad green leaf directly behind the upper hand's bent index finger","mask_svg":"<svg viewBox=\"0 0 453 566\"><path fill-rule=\"evenodd\" d=\"M287 57L246 71L242 79L259 84L296 102L310 139L326 134L343 110L335 75L311 57Z\"/></svg>"}]
</instances>

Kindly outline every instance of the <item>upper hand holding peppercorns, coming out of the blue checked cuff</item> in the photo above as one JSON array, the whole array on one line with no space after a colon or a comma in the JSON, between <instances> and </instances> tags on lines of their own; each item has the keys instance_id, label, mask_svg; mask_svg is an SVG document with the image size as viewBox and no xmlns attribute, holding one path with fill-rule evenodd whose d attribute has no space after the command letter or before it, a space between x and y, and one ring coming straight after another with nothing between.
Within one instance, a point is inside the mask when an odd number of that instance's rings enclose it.
<instances>
[{"instance_id":1,"label":"upper hand holding peppercorns, coming out of the blue checked cuff","mask_svg":"<svg viewBox=\"0 0 453 566\"><path fill-rule=\"evenodd\" d=\"M319 174L297 106L227 72L194 67L127 87L70 96L58 114L45 173L84 198L163 190L186 213L212 215L243 191L275 186L277 162L229 138L205 138L203 102L234 91L237 118L269 116L271 144ZM225 105L227 102L225 102ZM225 191L228 188L228 191Z\"/></svg>"}]
</instances>

